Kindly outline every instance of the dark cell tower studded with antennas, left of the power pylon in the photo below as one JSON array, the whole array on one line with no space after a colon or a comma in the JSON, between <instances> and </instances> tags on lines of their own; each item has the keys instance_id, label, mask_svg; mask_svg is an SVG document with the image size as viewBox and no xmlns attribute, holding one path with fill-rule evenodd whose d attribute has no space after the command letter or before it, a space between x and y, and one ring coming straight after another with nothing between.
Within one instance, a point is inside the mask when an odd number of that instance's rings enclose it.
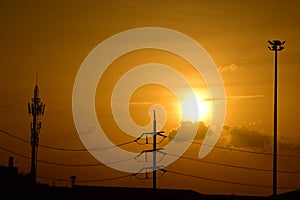
<instances>
[{"instance_id":1,"label":"dark cell tower studded with antennas, left of the power pylon","mask_svg":"<svg viewBox=\"0 0 300 200\"><path fill-rule=\"evenodd\" d=\"M39 133L41 130L42 122L39 121L41 115L44 115L45 104L41 102L39 98L39 87L38 87L38 77L36 77L36 84L33 91L33 98L31 103L28 103L28 114L32 115L32 122L30 123L31 130L31 168L30 174L33 178L34 183L36 183L37 176L37 150L39 145Z\"/></svg>"}]
</instances>

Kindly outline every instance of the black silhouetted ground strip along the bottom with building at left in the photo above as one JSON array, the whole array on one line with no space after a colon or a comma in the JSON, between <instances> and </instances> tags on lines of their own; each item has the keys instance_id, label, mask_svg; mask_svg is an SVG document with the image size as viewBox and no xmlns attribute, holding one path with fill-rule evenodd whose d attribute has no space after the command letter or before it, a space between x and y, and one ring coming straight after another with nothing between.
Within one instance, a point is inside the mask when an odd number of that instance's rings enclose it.
<instances>
[{"instance_id":1,"label":"black silhouetted ground strip along the bottom with building at left","mask_svg":"<svg viewBox=\"0 0 300 200\"><path fill-rule=\"evenodd\" d=\"M277 196L241 196L222 194L201 194L186 189L156 189L130 187L49 186L34 183L28 174L18 173L9 157L8 166L0 166L0 194L7 199L130 199L130 200L298 200L300 190L294 190Z\"/></svg>"}]
</instances>

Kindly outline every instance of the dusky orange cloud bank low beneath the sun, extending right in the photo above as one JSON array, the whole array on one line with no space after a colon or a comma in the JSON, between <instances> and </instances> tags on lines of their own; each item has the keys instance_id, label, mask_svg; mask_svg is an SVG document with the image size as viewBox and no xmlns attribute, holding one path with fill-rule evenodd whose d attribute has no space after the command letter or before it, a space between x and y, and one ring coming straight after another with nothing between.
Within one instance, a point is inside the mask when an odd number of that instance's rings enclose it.
<instances>
[{"instance_id":1,"label":"dusky orange cloud bank low beneath the sun, extending right","mask_svg":"<svg viewBox=\"0 0 300 200\"><path fill-rule=\"evenodd\" d=\"M256 128L256 123L249 123L248 125L242 126L231 126L224 125L223 132L219 138L218 144L228 148L236 149L251 149L257 151L271 152L272 151L272 136L267 134L264 130ZM209 125L205 124L203 121L191 122L183 121L176 129L173 129L167 133L167 135L172 139L176 137L176 133L181 126L190 127L193 130L194 126L198 125L198 131L195 138L190 138L191 140L197 141L199 143L204 139ZM189 128L186 129L186 134L189 134ZM189 137L186 137L189 138ZM300 145L299 140L293 140L288 138L279 138L278 146L281 152L299 154ZM180 142L180 138L175 140Z\"/></svg>"}]
</instances>

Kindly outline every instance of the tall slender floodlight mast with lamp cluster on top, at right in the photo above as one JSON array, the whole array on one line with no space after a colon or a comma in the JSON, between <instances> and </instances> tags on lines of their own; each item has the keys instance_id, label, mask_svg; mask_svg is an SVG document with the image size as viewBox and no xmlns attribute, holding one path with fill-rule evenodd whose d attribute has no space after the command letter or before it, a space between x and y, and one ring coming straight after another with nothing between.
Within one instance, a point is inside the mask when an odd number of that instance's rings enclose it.
<instances>
[{"instance_id":1,"label":"tall slender floodlight mast with lamp cluster on top, at right","mask_svg":"<svg viewBox=\"0 0 300 200\"><path fill-rule=\"evenodd\" d=\"M277 52L284 49L285 41L268 41L271 45L268 48L275 51L275 72L274 72L274 144L273 144L273 196L277 195Z\"/></svg>"}]
</instances>

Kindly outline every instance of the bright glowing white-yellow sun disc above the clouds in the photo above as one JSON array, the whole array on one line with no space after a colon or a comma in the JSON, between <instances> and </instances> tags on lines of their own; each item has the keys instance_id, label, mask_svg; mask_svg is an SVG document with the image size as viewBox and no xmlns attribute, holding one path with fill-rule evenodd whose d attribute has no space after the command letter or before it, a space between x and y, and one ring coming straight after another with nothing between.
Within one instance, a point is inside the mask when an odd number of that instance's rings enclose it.
<instances>
[{"instance_id":1,"label":"bright glowing white-yellow sun disc above the clouds","mask_svg":"<svg viewBox=\"0 0 300 200\"><path fill-rule=\"evenodd\" d=\"M187 95L186 99L182 102L182 109L187 111L186 114L182 116L183 121L204 121L207 122L210 119L211 114L211 103L205 101L205 98L200 93L195 93L198 108L195 109L193 106L193 97L192 95ZM197 113L198 111L198 113Z\"/></svg>"}]
</instances>

